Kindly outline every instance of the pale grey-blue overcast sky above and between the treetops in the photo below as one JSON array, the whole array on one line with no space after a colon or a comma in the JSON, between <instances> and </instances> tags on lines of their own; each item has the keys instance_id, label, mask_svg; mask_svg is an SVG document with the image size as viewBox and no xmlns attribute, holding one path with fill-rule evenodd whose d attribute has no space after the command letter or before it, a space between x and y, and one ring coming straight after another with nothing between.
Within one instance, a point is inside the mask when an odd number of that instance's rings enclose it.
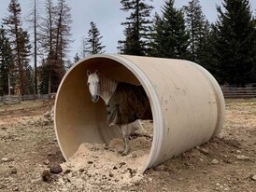
<instances>
[{"instance_id":1,"label":"pale grey-blue overcast sky above and between the treetops","mask_svg":"<svg viewBox=\"0 0 256 192\"><path fill-rule=\"evenodd\" d=\"M43 2L43 0L41 0ZM56 0L55 0L56 1ZM7 7L10 0L0 0L0 19L6 17ZM19 0L21 4L22 20L29 12L33 0ZM189 0L176 0L176 7L188 5ZM221 0L201 0L200 4L206 19L214 22L217 19L216 5L221 4ZM250 0L250 5L255 13L256 0ZM69 58L73 61L75 54L80 51L81 39L87 35L90 29L90 22L94 21L100 34L103 36L102 43L106 46L106 53L117 53L118 41L124 38L121 22L125 21L128 15L120 10L119 0L66 0L71 7L72 16L72 39L74 42L70 45ZM160 13L164 0L154 0L150 3L154 8L152 13ZM26 28L25 25L23 25Z\"/></svg>"}]
</instances>

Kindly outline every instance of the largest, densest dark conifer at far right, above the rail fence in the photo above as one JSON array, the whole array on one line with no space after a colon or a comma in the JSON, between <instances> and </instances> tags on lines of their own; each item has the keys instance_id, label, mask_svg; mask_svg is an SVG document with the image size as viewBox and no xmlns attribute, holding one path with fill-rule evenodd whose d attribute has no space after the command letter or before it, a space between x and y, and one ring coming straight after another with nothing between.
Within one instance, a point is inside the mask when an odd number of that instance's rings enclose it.
<instances>
[{"instance_id":1,"label":"largest, densest dark conifer at far right, above the rail fence","mask_svg":"<svg viewBox=\"0 0 256 192\"><path fill-rule=\"evenodd\" d=\"M255 63L254 23L249 0L223 0L214 26L220 83L244 87Z\"/></svg>"}]
</instances>

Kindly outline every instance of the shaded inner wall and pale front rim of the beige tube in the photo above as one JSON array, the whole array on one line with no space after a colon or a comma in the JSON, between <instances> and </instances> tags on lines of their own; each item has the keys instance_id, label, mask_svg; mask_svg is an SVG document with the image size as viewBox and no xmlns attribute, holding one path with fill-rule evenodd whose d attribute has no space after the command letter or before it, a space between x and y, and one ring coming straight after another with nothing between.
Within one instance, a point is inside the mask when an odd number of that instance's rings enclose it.
<instances>
[{"instance_id":1,"label":"shaded inner wall and pale front rim of the beige tube","mask_svg":"<svg viewBox=\"0 0 256 192\"><path fill-rule=\"evenodd\" d=\"M135 64L123 60L111 55L94 55L79 61L64 75L61 89L56 96L54 124L65 160L72 157L82 143L108 144L111 139L121 137L119 129L110 128L107 125L106 105L103 100L92 103L87 87L87 70L91 72L98 70L120 82L141 84L149 97L153 126L157 124L159 127L163 124L160 104L149 79ZM156 129L153 131L150 154L156 153L158 144L154 144L156 142L154 138L159 138L155 135L160 133ZM148 158L142 170L145 171L150 163L152 160Z\"/></svg>"}]
</instances>

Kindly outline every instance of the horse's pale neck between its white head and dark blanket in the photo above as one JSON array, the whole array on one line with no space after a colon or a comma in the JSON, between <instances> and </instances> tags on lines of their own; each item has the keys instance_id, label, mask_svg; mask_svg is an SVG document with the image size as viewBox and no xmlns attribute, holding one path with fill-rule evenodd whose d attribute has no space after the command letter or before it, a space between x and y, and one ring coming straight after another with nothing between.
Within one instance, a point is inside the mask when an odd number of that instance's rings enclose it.
<instances>
[{"instance_id":1,"label":"horse's pale neck between its white head and dark blanket","mask_svg":"<svg viewBox=\"0 0 256 192\"><path fill-rule=\"evenodd\" d=\"M100 75L100 97L107 104L115 92L118 82L115 79Z\"/></svg>"}]
</instances>

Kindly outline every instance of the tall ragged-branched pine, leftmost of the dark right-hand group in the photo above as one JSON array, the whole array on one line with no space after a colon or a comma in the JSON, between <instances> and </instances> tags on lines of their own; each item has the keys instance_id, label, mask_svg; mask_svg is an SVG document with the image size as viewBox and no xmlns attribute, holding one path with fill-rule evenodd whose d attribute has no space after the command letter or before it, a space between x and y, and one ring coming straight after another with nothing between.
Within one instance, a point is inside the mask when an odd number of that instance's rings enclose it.
<instances>
[{"instance_id":1,"label":"tall ragged-branched pine, leftmost of the dark right-hand group","mask_svg":"<svg viewBox=\"0 0 256 192\"><path fill-rule=\"evenodd\" d=\"M130 12L121 25L125 26L125 40L119 41L122 54L147 55L150 38L150 11L153 9L145 3L146 0L121 0L121 10ZM152 0L150 0L152 1Z\"/></svg>"}]
</instances>

